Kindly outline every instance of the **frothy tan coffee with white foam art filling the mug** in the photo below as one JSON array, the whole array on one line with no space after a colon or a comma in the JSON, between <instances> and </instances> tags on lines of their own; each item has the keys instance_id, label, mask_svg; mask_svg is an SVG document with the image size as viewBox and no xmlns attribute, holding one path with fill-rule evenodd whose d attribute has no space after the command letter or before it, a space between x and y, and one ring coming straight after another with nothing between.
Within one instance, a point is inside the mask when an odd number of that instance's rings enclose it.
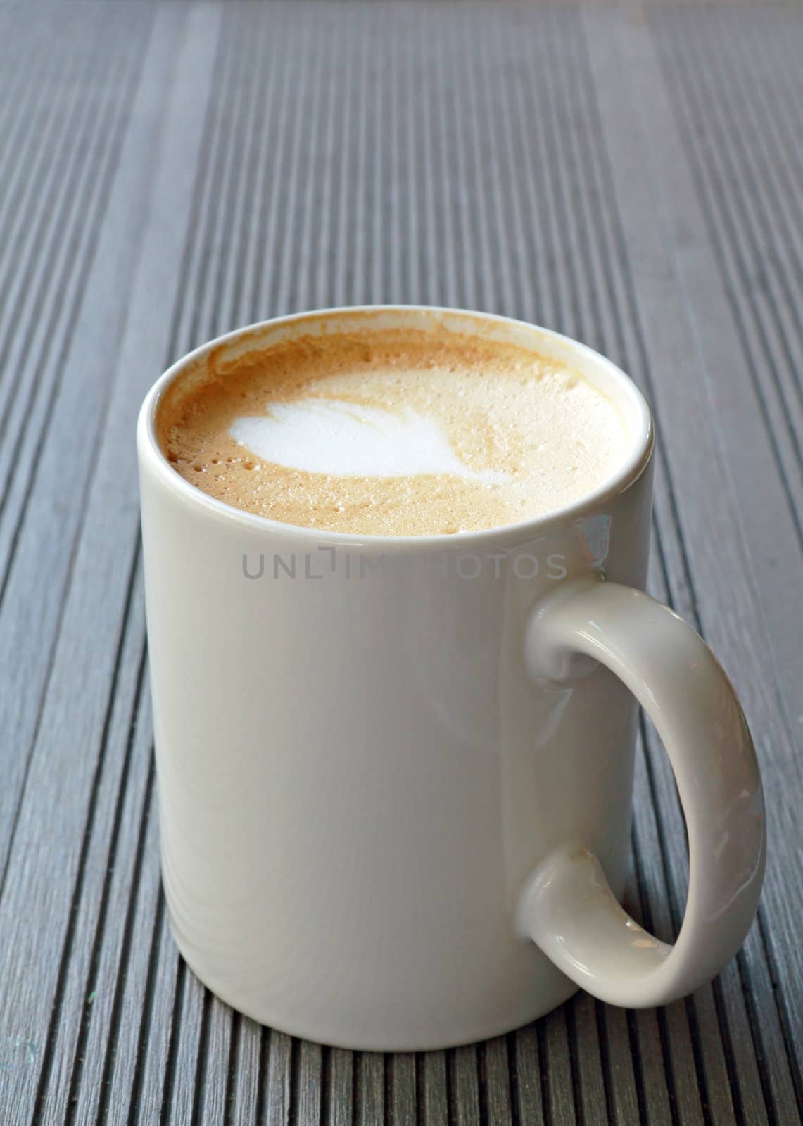
<instances>
[{"instance_id":1,"label":"frothy tan coffee with white foam art filling the mug","mask_svg":"<svg viewBox=\"0 0 803 1126\"><path fill-rule=\"evenodd\" d=\"M563 508L633 439L581 375L523 347L447 331L287 339L213 351L164 395L163 453L247 512L359 535L493 528Z\"/></svg>"}]
</instances>

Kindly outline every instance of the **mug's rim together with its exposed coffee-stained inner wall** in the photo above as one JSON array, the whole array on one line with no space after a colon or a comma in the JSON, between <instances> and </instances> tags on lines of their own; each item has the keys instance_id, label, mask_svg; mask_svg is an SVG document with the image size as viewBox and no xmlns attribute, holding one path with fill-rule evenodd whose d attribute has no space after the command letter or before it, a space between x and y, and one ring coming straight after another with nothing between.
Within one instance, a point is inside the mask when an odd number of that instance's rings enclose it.
<instances>
[{"instance_id":1,"label":"mug's rim together with its exposed coffee-stained inner wall","mask_svg":"<svg viewBox=\"0 0 803 1126\"><path fill-rule=\"evenodd\" d=\"M489 313L463 310L437 309L413 305L381 305L321 310L278 318L248 325L212 340L173 364L153 386L142 406L140 415L140 456L154 457L160 475L167 474L170 485L180 490L186 500L212 506L230 517L256 521L268 528L284 528L294 534L307 533L319 542L327 539L366 543L393 540L396 545L412 542L420 546L427 542L455 542L454 534L436 536L378 536L322 531L297 525L282 524L264 516L246 512L202 492L176 473L163 452L159 432L160 415L169 410L175 399L187 393L194 384L200 384L214 372L216 377L225 377L226 370L234 370L247 357L284 341L301 337L337 336L338 333L371 332L387 329L410 329L418 332L450 332L457 336L482 337L485 341L515 345L536 356L556 360L581 375L587 383L599 390L616 406L630 436L630 448L624 454L617 470L603 480L592 491L571 504L544 516L529 518L518 524L503 525L480 531L458 533L461 544L500 533L518 533L524 529L535 533L542 527L553 527L582 515L582 511L598 503L606 495L624 491L646 466L653 443L653 427L650 409L635 384L612 360L594 349L569 337L548 329L527 324Z\"/></svg>"}]
</instances>

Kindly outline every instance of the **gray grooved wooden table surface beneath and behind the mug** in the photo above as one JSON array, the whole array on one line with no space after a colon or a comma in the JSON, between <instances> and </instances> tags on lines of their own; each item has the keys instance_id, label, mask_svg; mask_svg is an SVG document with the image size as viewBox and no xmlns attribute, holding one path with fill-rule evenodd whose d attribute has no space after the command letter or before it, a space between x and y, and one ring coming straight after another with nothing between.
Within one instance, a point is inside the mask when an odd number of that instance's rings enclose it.
<instances>
[{"instance_id":1,"label":"gray grooved wooden table surface beneath and behind the mug","mask_svg":"<svg viewBox=\"0 0 803 1126\"><path fill-rule=\"evenodd\" d=\"M800 1120L802 53L774 5L0 7L0 1123ZM759 919L687 1001L383 1057L177 956L137 405L225 329L373 301L555 327L654 405L651 588L735 681L769 813ZM628 906L671 937L682 819L643 748Z\"/></svg>"}]
</instances>

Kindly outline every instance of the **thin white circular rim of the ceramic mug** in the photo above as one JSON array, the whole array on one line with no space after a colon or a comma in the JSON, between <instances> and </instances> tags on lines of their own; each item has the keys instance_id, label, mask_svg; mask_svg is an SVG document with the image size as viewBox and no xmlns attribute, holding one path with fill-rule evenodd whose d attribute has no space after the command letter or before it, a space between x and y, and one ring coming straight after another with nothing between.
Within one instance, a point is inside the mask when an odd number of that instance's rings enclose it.
<instances>
[{"instance_id":1,"label":"thin white circular rim of the ceramic mug","mask_svg":"<svg viewBox=\"0 0 803 1126\"><path fill-rule=\"evenodd\" d=\"M243 509L226 504L225 501L209 497L208 493L203 492L200 489L196 489L195 485L190 484L172 468L157 439L157 408L167 388L181 375L181 372L188 365L202 359L215 348L234 342L238 338L247 334L261 332L268 328L293 324L304 320L320 321L332 316L347 316L349 314L355 315L360 313L386 313L391 315L394 313L400 315L405 313L422 313L438 314L439 316L471 318L475 321L484 321L496 324L501 329L505 329L505 327L527 329L538 334L548 337L551 340L566 345L572 351L576 351L581 356L586 356L596 365L601 366L606 377L613 379L613 382L616 383L630 397L641 420L640 431L633 439L633 448L623 461L619 468L612 474L612 476L607 477L596 489L585 493L578 500L572 501L571 504L564 504L561 508L544 513L543 516L530 517L526 520L519 520L516 524L497 525L491 528L481 528L473 531L439 533L437 535L426 536L394 536L373 535L368 533L332 531L324 528L311 528L306 525L286 524L282 520L273 520L266 516L260 516L257 512L247 512ZM633 379L617 364L615 364L607 356L604 356L601 352L596 351L596 349L590 348L588 345L581 343L579 340L574 340L572 337L568 337L562 332L556 332L554 329L545 329L542 325L534 324L529 321L523 321L511 316L502 316L498 313L487 313L480 310L456 309L444 305L399 304L338 305L330 309L309 310L300 313L289 313L283 316L271 316L264 321L256 321L252 324L241 325L238 329L233 329L231 332L225 332L220 337L215 337L213 340L207 340L205 343L199 345L191 351L180 356L155 381L145 395L140 409L136 438L140 462L144 463L146 458L150 459L161 483L163 483L179 501L189 506L199 507L202 511L205 511L209 516L216 516L221 519L233 521L234 524L239 524L243 528L248 528L251 531L261 530L265 534L273 533L274 535L309 538L315 543L354 547L363 546L387 548L389 545L393 545L393 548L396 552L417 552L432 547L443 549L445 547L460 546L461 548L464 548L471 545L481 546L490 540L497 544L500 540L506 544L508 542L528 543L533 539L542 538L555 528L560 528L566 524L572 524L578 519L582 519L583 516L587 516L589 512L597 509L600 503L604 503L606 500L617 497L630 489L630 486L639 480L646 466L650 464L655 440L652 411L650 410L649 403L642 392L635 385Z\"/></svg>"}]
</instances>

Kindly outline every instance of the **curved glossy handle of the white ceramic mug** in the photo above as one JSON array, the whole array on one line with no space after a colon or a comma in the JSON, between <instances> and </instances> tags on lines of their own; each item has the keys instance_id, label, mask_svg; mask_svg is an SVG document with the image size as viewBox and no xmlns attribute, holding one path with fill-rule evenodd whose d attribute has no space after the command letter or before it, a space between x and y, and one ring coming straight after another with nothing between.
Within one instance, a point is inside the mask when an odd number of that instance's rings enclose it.
<instances>
[{"instance_id":1,"label":"curved glossy handle of the white ceramic mug","mask_svg":"<svg viewBox=\"0 0 803 1126\"><path fill-rule=\"evenodd\" d=\"M764 878L761 779L747 721L719 661L682 618L600 577L564 580L526 634L534 679L572 681L606 665L663 740L686 817L689 884L673 946L619 906L582 841L554 849L519 899L517 927L589 993L648 1008L690 993L737 953Z\"/></svg>"}]
</instances>

